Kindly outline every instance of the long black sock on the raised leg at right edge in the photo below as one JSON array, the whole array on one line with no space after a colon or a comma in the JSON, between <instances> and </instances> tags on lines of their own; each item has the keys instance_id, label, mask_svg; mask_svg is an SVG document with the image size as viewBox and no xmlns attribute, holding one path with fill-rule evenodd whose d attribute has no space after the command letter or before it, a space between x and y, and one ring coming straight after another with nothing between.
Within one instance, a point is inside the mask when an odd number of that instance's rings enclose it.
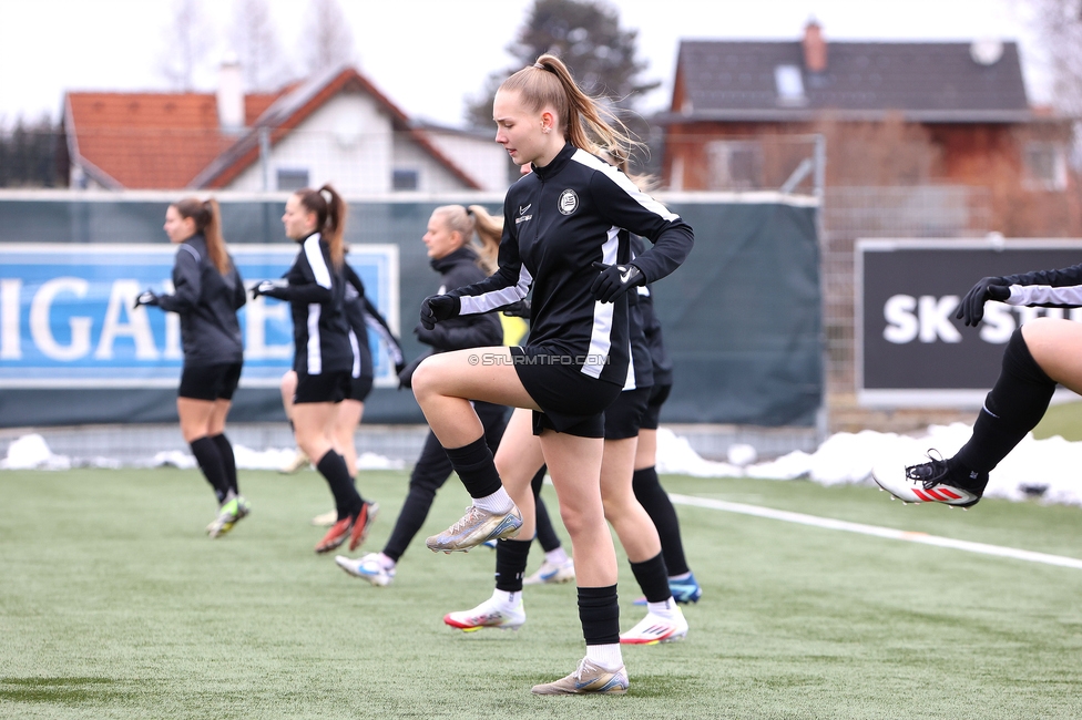
<instances>
[{"instance_id":1,"label":"long black sock on the raised leg at right edge","mask_svg":"<svg viewBox=\"0 0 1082 720\"><path fill-rule=\"evenodd\" d=\"M1014 449L1044 416L1055 382L1033 360L1021 329L1003 351L1003 367L973 425L973 436L948 461L970 474L988 473ZM978 479L979 484L987 477ZM969 487L983 492L981 487Z\"/></svg>"}]
</instances>

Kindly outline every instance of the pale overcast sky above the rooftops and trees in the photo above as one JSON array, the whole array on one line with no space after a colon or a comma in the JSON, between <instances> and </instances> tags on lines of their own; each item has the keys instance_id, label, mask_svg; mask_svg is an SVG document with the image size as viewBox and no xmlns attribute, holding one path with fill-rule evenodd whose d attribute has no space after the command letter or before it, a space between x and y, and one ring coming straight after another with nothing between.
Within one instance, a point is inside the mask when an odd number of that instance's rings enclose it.
<instances>
[{"instance_id":1,"label":"pale overcast sky above the rooftops and trees","mask_svg":"<svg viewBox=\"0 0 1082 720\"><path fill-rule=\"evenodd\" d=\"M203 0L224 37L233 0ZM461 123L467 95L511 62L504 52L532 0L340 0L357 63L408 115ZM270 0L286 53L299 65L309 0ZM796 40L815 17L830 40L973 40L1021 43L1031 102L1048 101L1047 74L1024 0L620 0L639 30L645 76L672 90L681 39ZM0 119L57 117L68 90L169 90L159 72L173 0L0 0ZM215 76L198 79L213 90Z\"/></svg>"}]
</instances>

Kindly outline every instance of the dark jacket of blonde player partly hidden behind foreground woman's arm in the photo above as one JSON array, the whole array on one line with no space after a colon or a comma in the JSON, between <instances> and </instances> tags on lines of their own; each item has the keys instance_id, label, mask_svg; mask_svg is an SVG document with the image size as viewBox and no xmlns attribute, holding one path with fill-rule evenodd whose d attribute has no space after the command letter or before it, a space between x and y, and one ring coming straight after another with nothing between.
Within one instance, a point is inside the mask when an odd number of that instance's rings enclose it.
<instances>
[{"instance_id":1,"label":"dark jacket of blonde player partly hidden behind foreground woman's arm","mask_svg":"<svg viewBox=\"0 0 1082 720\"><path fill-rule=\"evenodd\" d=\"M431 266L440 274L438 295L484 279L484 272L477 265L477 253L468 246L432 260ZM431 330L418 323L414 332L418 340L432 346L436 352L488 348L503 343L503 325L494 312L462 315L439 322Z\"/></svg>"}]
</instances>

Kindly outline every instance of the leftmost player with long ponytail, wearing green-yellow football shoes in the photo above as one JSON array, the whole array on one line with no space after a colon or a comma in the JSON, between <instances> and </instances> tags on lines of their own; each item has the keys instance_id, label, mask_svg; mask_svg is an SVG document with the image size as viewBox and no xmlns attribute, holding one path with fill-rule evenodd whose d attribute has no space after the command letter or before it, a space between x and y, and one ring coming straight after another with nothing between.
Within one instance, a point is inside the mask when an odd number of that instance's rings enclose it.
<instances>
[{"instance_id":1,"label":"leftmost player with long ponytail, wearing green-yellow football shoes","mask_svg":"<svg viewBox=\"0 0 1082 720\"><path fill-rule=\"evenodd\" d=\"M214 199L190 197L170 205L165 234L181 246L173 265L173 294L147 290L135 300L136 308L153 305L181 316L184 370L176 413L184 441L218 501L218 516L206 527L211 537L228 533L251 511L237 488L236 459L225 436L225 419L244 362L236 312L246 298L225 247L221 218Z\"/></svg>"}]
</instances>

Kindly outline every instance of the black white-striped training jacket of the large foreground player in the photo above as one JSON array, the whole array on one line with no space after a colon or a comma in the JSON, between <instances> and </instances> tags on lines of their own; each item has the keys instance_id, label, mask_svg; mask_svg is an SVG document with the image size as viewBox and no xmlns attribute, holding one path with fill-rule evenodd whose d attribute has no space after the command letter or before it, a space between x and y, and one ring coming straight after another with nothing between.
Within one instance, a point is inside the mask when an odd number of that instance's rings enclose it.
<instances>
[{"instance_id":1,"label":"black white-striped training jacket of the large foreground player","mask_svg":"<svg viewBox=\"0 0 1082 720\"><path fill-rule=\"evenodd\" d=\"M635 258L645 282L675 270L694 244L691 226L615 167L571 144L519 178L503 205L500 269L451 292L463 315L510 305L533 288L530 346L575 358L584 374L624 385L627 295L598 302L593 263L627 257L629 232L654 246Z\"/></svg>"}]
</instances>

